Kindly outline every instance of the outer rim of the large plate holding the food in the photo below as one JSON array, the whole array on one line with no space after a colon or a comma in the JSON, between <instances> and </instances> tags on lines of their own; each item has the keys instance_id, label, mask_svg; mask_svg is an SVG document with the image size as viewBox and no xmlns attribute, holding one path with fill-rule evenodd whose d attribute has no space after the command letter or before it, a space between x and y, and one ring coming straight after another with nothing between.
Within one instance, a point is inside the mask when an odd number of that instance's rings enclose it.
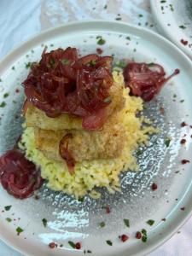
<instances>
[{"instance_id":1,"label":"outer rim of the large plate holding the food","mask_svg":"<svg viewBox=\"0 0 192 256\"><path fill-rule=\"evenodd\" d=\"M154 0L150 0L151 2ZM188 62L189 66L192 69L192 62L190 61L189 57L187 55L185 55L183 53L183 51L181 49L179 49L175 44L173 44L171 41L169 41L167 38L164 38L162 35L158 34L157 32L151 31L148 28L142 27L142 26L137 26L131 23L127 23L127 22L122 22L122 21L113 21L113 20L84 20L84 21L74 21L74 22L68 22L67 24L62 24L61 26L55 26L52 28L49 28L47 30L44 30L44 32L39 32L38 34L33 35L32 37L29 37L26 41L21 42L20 44L17 44L11 51L9 51L9 53L7 55L5 55L1 60L0 60L0 67L3 67L3 63L6 63L7 61L11 61L11 59L13 60L13 55L16 55L18 52L20 52L20 49L23 49L25 47L30 47L30 44L34 44L34 42L40 41L41 38L44 38L46 35L49 35L50 32L55 32L55 31L59 31L60 29L62 29L63 27L66 28L67 26L84 26L84 25L94 25L94 24L103 24L103 26L105 26L106 24L110 24L113 25L115 24L116 26L127 26L127 28L131 28L131 29L136 29L137 31L140 32L144 32L144 33L148 33L150 34L152 37L154 38L159 38L161 41L163 41L165 44L169 44L170 46L172 46L172 48L174 48L175 50L177 50L177 52L183 57L183 59L185 59L185 61ZM192 193L191 193L191 197L192 197ZM179 222L179 224L177 225L177 227L172 228L170 230L168 230L168 232L166 235L164 235L165 237L163 239L154 241L153 243L149 244L148 243L148 247L143 248L143 251L140 253L137 253L138 256L142 256L145 255L146 253L151 253L152 251L154 251L157 247L160 247L162 244L164 244L166 241L168 241L176 232L178 229L180 229L183 224L185 224L188 219L191 217L192 215L192 205L191 207L188 207L188 209L185 211L185 216L183 216L181 219L181 221ZM19 246L17 246L17 243L15 242L15 244L11 244L9 242L9 239L3 237L3 234L0 233L0 239L7 244L9 247L14 248L16 251L20 252L20 253L25 253L25 255L29 255L29 256L35 256L32 253L29 253L26 250L20 249Z\"/></svg>"}]
</instances>

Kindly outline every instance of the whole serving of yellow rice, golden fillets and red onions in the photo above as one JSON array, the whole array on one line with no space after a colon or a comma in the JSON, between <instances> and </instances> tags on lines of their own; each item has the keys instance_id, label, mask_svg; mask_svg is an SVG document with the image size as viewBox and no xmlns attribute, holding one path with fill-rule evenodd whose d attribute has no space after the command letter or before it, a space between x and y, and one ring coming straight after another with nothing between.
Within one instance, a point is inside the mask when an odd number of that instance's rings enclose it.
<instances>
[{"instance_id":1,"label":"whole serving of yellow rice, golden fillets and red onions","mask_svg":"<svg viewBox=\"0 0 192 256\"><path fill-rule=\"evenodd\" d=\"M45 179L50 189L98 198L96 188L119 191L119 174L138 171L134 152L157 132L141 113L143 101L179 71L166 78L158 64L128 61L117 72L112 62L111 56L79 57L68 47L44 49L32 63L23 82L20 148L0 158L0 180L11 195L28 197Z\"/></svg>"}]
</instances>

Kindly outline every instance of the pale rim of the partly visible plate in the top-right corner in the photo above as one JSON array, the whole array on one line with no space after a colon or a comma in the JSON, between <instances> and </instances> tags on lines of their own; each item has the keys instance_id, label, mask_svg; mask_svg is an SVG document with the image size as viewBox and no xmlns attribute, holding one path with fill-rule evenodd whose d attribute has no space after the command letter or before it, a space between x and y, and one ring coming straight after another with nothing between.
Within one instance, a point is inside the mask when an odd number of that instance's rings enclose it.
<instances>
[{"instance_id":1,"label":"pale rim of the partly visible plate in the top-right corner","mask_svg":"<svg viewBox=\"0 0 192 256\"><path fill-rule=\"evenodd\" d=\"M172 41L172 44L176 44L179 49L182 49L183 52L189 56L189 58L192 59L192 51L189 50L187 47L185 47L183 44L180 44L178 40L176 40L177 37L174 37L173 33L168 32L166 29L166 26L163 22L161 22L162 15L160 12L158 12L158 6L160 2L158 0L150 0L150 7L151 12L153 14L153 19L157 23L157 27L159 28L159 31L162 32L163 35L165 35L166 38L169 38L169 40Z\"/></svg>"}]
</instances>

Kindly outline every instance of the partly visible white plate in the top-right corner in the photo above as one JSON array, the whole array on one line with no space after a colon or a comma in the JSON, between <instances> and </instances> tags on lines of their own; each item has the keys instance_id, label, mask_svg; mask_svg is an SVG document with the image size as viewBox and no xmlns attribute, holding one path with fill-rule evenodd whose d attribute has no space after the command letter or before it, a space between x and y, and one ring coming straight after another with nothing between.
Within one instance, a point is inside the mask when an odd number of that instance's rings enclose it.
<instances>
[{"instance_id":1,"label":"partly visible white plate in the top-right corner","mask_svg":"<svg viewBox=\"0 0 192 256\"><path fill-rule=\"evenodd\" d=\"M160 32L192 58L192 2L150 0L150 4Z\"/></svg>"}]
</instances>

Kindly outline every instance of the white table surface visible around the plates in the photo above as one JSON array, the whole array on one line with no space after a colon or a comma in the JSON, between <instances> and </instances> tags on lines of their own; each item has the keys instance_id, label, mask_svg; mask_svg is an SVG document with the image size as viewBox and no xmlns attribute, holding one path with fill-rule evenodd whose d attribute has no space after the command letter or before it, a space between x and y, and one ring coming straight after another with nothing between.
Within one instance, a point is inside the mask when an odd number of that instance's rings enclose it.
<instances>
[{"instance_id":1,"label":"white table surface visible around the plates","mask_svg":"<svg viewBox=\"0 0 192 256\"><path fill-rule=\"evenodd\" d=\"M155 0L154 0L155 1ZM149 0L1 0L0 59L26 39L75 20L122 20L157 31ZM148 256L191 256L192 218L172 239ZM0 241L1 256L21 253Z\"/></svg>"}]
</instances>

